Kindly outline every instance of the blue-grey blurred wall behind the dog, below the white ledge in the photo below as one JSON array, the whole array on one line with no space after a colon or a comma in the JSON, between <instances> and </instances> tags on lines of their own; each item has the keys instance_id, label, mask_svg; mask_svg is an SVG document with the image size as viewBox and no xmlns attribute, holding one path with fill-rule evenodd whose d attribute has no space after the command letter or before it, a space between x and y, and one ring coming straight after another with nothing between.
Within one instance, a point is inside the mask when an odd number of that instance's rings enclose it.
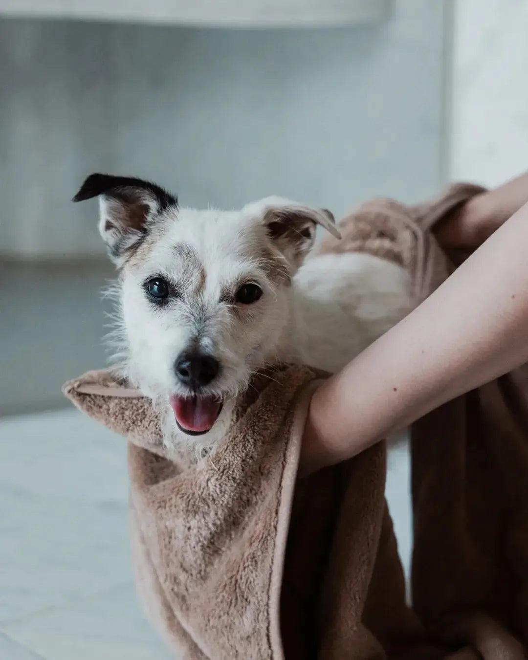
<instances>
[{"instance_id":1,"label":"blue-grey blurred wall behind the dog, below the white ledge","mask_svg":"<svg viewBox=\"0 0 528 660\"><path fill-rule=\"evenodd\" d=\"M100 255L93 171L184 205L282 194L337 215L442 183L444 3L327 30L0 21L0 254Z\"/></svg>"}]
</instances>

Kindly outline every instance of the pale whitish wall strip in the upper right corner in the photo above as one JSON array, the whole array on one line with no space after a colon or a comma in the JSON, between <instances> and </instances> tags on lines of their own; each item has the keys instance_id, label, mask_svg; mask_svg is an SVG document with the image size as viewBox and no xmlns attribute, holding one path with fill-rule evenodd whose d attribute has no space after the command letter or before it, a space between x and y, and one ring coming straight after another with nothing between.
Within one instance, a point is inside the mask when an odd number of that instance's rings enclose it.
<instances>
[{"instance_id":1,"label":"pale whitish wall strip in the upper right corner","mask_svg":"<svg viewBox=\"0 0 528 660\"><path fill-rule=\"evenodd\" d=\"M528 169L528 0L456 0L449 174L498 185Z\"/></svg>"}]
</instances>

